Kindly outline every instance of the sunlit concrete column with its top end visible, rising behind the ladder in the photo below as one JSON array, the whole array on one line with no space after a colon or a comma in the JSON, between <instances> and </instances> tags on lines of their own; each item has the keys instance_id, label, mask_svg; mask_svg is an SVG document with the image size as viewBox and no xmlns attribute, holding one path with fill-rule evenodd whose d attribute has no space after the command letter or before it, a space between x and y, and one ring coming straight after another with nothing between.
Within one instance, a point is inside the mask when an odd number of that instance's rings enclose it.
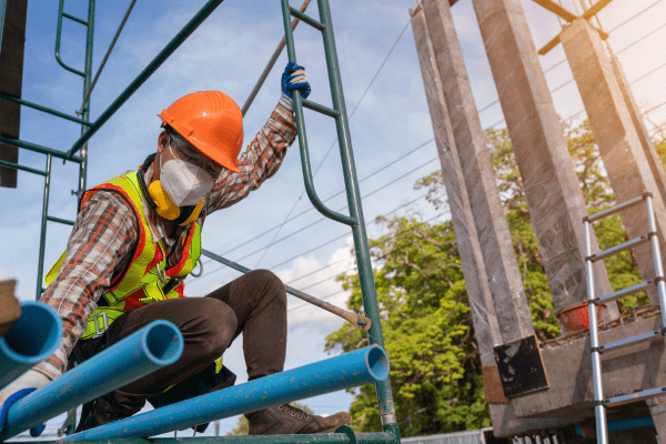
<instances>
[{"instance_id":1,"label":"sunlit concrete column with its top end visible, rising behind the ladder","mask_svg":"<svg viewBox=\"0 0 666 444\"><path fill-rule=\"evenodd\" d=\"M562 32L561 40L578 84L615 199L617 202L624 202L645 191L653 193L657 232L665 252L666 204L662 198L663 190L657 186L650 162L602 40L585 20L576 20L568 26ZM649 231L644 205L623 212L622 219L629 238L637 238ZM634 254L643 279L654 278L655 265L649 243L635 248ZM650 290L650 303L658 304L656 289Z\"/></svg>"}]
</instances>

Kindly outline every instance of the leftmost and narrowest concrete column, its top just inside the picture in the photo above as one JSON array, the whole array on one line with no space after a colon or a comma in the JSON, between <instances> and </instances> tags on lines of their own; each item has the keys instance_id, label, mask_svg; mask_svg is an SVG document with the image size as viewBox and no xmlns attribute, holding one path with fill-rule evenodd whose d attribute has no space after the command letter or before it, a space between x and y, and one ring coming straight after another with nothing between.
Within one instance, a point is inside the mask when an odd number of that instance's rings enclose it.
<instances>
[{"instance_id":1,"label":"leftmost and narrowest concrete column, its top just inside the picture","mask_svg":"<svg viewBox=\"0 0 666 444\"><path fill-rule=\"evenodd\" d=\"M438 82L440 77L434 65L432 43L421 8L413 11L412 30L414 31L418 61L421 62L421 73L425 85L425 95L433 121L440 162L442 163L446 198L451 208L451 220L463 264L463 275L465 276L467 299L472 309L472 321L476 333L481 363L494 366L496 363L493 347L500 345L502 340L497 329L495 309L486 279L478 236L474 225L474 216L470 209L465 181L448 120L448 111L446 110L442 87Z\"/></svg>"}]
</instances>

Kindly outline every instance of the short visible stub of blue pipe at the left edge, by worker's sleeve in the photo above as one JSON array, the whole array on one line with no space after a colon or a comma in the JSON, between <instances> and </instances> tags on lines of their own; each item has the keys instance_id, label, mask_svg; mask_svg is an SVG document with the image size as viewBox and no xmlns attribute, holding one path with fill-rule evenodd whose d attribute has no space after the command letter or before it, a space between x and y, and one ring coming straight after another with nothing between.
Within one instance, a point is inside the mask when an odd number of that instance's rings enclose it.
<instances>
[{"instance_id":1,"label":"short visible stub of blue pipe at the left edge, by worker's sleeve","mask_svg":"<svg viewBox=\"0 0 666 444\"><path fill-rule=\"evenodd\" d=\"M41 302L21 303L21 317L0 339L0 389L49 357L62 337L62 322Z\"/></svg>"}]
</instances>

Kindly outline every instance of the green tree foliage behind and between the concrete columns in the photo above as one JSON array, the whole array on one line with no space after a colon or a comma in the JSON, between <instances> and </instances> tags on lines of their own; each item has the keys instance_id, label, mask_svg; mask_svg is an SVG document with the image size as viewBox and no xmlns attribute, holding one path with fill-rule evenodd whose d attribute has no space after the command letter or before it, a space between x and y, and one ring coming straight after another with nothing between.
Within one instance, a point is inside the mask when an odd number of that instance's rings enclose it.
<instances>
[{"instance_id":1,"label":"green tree foliage behind and between the concrete columns","mask_svg":"<svg viewBox=\"0 0 666 444\"><path fill-rule=\"evenodd\" d=\"M565 134L591 211L614 204L588 122L565 127ZM536 334L539 340L556 337L555 307L508 134L506 130L488 130L486 137ZM658 150L666 159L666 144ZM426 199L436 210L446 210L440 171L420 179L415 188L427 190ZM448 218L442 220L430 223L415 212L381 218L386 233L370 241L403 436L491 425L453 225ZM595 230L602 249L626 239L619 216L598 222ZM630 252L606 260L606 266L614 290L639 282ZM362 311L359 278L345 274L337 279L344 289L352 290L349 309ZM620 300L619 305L627 310L646 301L645 294L639 294ZM327 336L326 351L346 352L366 342L347 324ZM355 394L352 426L361 432L381 430L374 386L351 392Z\"/></svg>"}]
</instances>

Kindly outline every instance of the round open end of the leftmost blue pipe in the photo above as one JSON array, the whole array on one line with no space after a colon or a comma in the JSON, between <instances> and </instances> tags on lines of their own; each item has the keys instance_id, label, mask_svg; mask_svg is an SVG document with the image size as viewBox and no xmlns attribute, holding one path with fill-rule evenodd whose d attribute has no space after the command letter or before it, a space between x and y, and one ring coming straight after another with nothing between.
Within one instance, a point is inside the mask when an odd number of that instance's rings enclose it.
<instances>
[{"instance_id":1,"label":"round open end of the leftmost blue pipe","mask_svg":"<svg viewBox=\"0 0 666 444\"><path fill-rule=\"evenodd\" d=\"M21 317L0 341L26 363L41 362L60 344L62 323L48 305L37 302L21 304ZM7 350L6 350L7 351Z\"/></svg>"}]
</instances>

